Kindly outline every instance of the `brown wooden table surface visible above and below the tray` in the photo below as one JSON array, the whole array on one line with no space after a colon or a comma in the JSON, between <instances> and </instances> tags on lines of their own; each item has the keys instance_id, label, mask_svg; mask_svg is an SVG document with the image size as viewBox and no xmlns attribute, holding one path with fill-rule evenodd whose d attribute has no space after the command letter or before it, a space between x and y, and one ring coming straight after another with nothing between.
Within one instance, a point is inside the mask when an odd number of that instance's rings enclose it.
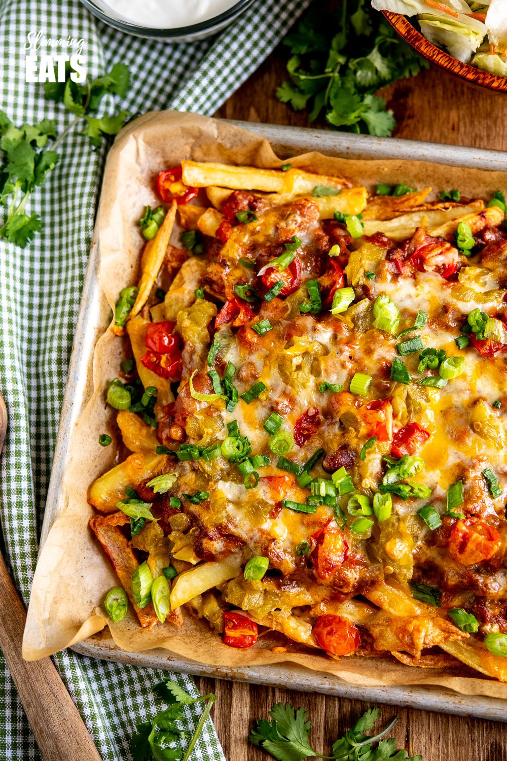
<instances>
[{"instance_id":1,"label":"brown wooden table surface visible above and below the tray","mask_svg":"<svg viewBox=\"0 0 507 761\"><path fill-rule=\"evenodd\" d=\"M277 85L286 77L286 56L280 46L216 115L309 126L305 112L294 113L274 97ZM397 137L476 148L507 148L505 95L461 84L437 69L398 81L385 88L382 95L398 119ZM349 729L366 709L365 703L317 694L204 678L197 682L202 692L217 694L213 718L228 761L267 761L271 757L247 743L247 737L252 721L267 717L274 702L289 701L306 708L312 720L312 746L324 754L331 750L337 733ZM382 706L384 724L395 715L400 721L393 734L399 747L406 747L410 756L420 753L423 761L507 759L507 724Z\"/></svg>"}]
</instances>

